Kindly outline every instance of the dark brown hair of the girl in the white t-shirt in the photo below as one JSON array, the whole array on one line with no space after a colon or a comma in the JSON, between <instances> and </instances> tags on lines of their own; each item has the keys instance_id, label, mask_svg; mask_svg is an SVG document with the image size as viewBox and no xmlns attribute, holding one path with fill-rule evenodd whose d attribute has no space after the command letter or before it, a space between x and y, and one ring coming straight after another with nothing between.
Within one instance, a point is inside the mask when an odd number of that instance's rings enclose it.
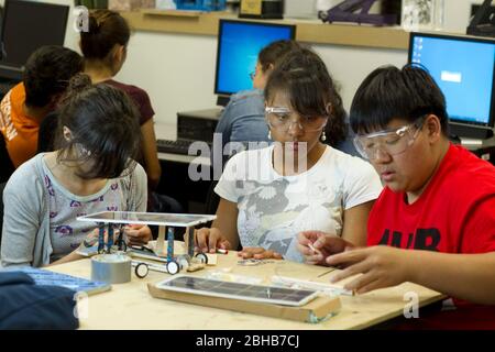
<instances>
[{"instance_id":1,"label":"dark brown hair of the girl in the white t-shirt","mask_svg":"<svg viewBox=\"0 0 495 352\"><path fill-rule=\"evenodd\" d=\"M328 117L327 144L336 146L345 140L348 125L342 98L327 66L314 51L300 47L285 55L268 77L265 100L272 101L276 94L286 94L293 109L301 116Z\"/></svg>"}]
</instances>

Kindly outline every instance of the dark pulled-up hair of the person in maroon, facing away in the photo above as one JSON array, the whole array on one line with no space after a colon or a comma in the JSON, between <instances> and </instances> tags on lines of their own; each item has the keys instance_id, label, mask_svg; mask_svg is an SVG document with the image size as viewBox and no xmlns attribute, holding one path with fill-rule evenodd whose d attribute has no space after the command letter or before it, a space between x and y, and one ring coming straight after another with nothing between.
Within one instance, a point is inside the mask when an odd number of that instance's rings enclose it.
<instances>
[{"instance_id":1,"label":"dark pulled-up hair of the person in maroon, facing away","mask_svg":"<svg viewBox=\"0 0 495 352\"><path fill-rule=\"evenodd\" d=\"M106 59L116 44L127 46L130 36L131 29L119 13L92 10L88 32L80 32L80 48L85 58Z\"/></svg>"}]
</instances>

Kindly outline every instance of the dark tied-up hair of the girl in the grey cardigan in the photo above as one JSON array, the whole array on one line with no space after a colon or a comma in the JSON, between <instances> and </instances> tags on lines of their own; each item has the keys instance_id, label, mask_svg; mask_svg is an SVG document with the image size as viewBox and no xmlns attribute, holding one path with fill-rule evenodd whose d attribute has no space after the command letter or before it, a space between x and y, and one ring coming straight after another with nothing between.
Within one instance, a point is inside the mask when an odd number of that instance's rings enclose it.
<instances>
[{"instance_id":1,"label":"dark tied-up hair of the girl in the grey cardigan","mask_svg":"<svg viewBox=\"0 0 495 352\"><path fill-rule=\"evenodd\" d=\"M132 172L141 133L138 110L125 92L105 84L92 86L89 76L78 74L70 79L57 112L59 162L91 161L94 168L78 175L86 179ZM72 132L69 141L64 127Z\"/></svg>"}]
</instances>

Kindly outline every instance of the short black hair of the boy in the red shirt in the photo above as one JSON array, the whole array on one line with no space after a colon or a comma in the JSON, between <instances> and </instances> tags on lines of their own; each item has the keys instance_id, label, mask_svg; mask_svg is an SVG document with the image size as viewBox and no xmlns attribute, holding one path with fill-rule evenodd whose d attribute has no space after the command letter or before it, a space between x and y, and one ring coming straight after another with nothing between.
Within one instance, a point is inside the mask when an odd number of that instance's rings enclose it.
<instances>
[{"instance_id":1,"label":"short black hair of the boy in the red shirt","mask_svg":"<svg viewBox=\"0 0 495 352\"><path fill-rule=\"evenodd\" d=\"M386 129L394 119L414 122L429 113L440 119L443 134L449 135L446 98L428 72L419 65L384 66L358 88L350 120L352 130L364 134Z\"/></svg>"}]
</instances>

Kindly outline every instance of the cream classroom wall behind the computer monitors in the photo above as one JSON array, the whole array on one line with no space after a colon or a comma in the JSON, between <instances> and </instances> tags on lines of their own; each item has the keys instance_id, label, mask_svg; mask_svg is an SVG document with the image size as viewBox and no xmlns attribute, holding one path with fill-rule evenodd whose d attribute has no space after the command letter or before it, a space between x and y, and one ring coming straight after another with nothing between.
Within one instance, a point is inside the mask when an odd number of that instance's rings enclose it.
<instances>
[{"instance_id":1,"label":"cream classroom wall behind the computer monitors","mask_svg":"<svg viewBox=\"0 0 495 352\"><path fill-rule=\"evenodd\" d=\"M336 0L334 0L336 1ZM0 3L3 2L2 0ZM45 0L73 7L73 0ZM469 23L471 3L482 0L444 0L448 32L462 33ZM78 33L70 12L65 45L78 50ZM315 45L333 78L341 85L344 107L374 68L407 62L406 51L375 50L339 45ZM208 109L213 95L217 38L186 34L135 32L129 45L128 61L117 79L144 88L155 109L157 122L175 123L177 111Z\"/></svg>"}]
</instances>

